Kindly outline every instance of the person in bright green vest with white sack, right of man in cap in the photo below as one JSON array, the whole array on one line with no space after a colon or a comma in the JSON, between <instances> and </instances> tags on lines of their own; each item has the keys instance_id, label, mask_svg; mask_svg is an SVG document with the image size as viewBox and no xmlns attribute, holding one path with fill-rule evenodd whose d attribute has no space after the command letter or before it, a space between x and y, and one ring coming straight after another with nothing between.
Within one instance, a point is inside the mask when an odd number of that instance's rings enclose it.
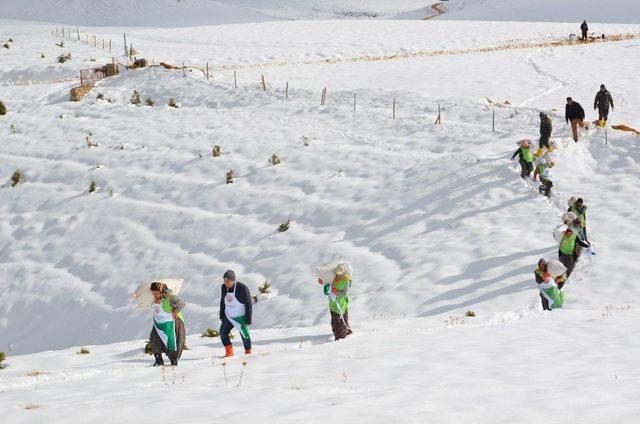
<instances>
[{"instance_id":1,"label":"person in bright green vest with white sack, right of man in cap","mask_svg":"<svg viewBox=\"0 0 640 424\"><path fill-rule=\"evenodd\" d=\"M322 285L324 294L329 297L331 331L335 340L344 339L352 333L349 326L349 289L352 273L351 265L342 262L325 277L326 280L318 277L318 284Z\"/></svg>"}]
</instances>

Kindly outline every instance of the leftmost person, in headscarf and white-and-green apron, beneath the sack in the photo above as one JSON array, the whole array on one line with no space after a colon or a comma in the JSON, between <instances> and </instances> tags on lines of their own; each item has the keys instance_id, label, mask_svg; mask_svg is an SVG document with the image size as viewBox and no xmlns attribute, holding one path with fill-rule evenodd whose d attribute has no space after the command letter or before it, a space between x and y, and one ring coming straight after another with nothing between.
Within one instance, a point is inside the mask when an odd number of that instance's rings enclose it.
<instances>
[{"instance_id":1,"label":"leftmost person, in headscarf and white-and-green apron, beneath the sack","mask_svg":"<svg viewBox=\"0 0 640 424\"><path fill-rule=\"evenodd\" d=\"M167 354L171 365L178 365L186 339L182 316L186 304L160 282L151 283L151 293L154 297L154 303L151 305L153 329L149 335L149 342L156 358L153 366L164 365L163 353Z\"/></svg>"}]
</instances>

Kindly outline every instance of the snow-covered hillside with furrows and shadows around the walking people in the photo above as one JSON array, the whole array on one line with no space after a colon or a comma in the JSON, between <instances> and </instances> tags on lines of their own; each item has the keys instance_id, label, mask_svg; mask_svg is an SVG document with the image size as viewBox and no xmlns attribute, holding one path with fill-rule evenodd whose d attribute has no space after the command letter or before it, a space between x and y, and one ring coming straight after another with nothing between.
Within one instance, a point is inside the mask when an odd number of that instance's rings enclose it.
<instances>
[{"instance_id":1,"label":"snow-covered hillside with furrows and shadows around the walking people","mask_svg":"<svg viewBox=\"0 0 640 424\"><path fill-rule=\"evenodd\" d=\"M246 17L254 3L223 6ZM301 4L264 2L246 21ZM612 125L640 129L640 25L593 25L607 38L581 44L575 23L162 28L163 16L84 28L96 47L0 22L5 420L633 422L640 137ZM108 25L123 22L138 25ZM123 33L139 57L184 70L122 69L69 102L80 69L127 60ZM565 97L593 121L601 83L610 126L574 143ZM554 125L550 199L510 160L516 141L537 140L540 111ZM597 255L581 258L566 308L546 313L533 271L557 257L569 196L589 207ZM355 269L355 334L332 343L314 268L338 258ZM254 307L254 354L223 366L220 341L199 334L220 324L230 268L277 294ZM157 277L185 281L190 350L175 369L145 366L151 318L131 297Z\"/></svg>"}]
</instances>

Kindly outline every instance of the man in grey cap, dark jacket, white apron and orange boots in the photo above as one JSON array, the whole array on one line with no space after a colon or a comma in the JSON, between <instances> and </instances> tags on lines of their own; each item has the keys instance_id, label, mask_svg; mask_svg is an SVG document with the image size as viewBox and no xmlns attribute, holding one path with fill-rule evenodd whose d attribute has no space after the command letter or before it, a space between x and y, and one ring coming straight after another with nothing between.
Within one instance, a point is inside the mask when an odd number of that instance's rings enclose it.
<instances>
[{"instance_id":1,"label":"man in grey cap, dark jacket, white apron and orange boots","mask_svg":"<svg viewBox=\"0 0 640 424\"><path fill-rule=\"evenodd\" d=\"M225 357L233 356L233 345L229 334L235 327L240 333L245 355L251 354L251 313L253 299L249 288L236 281L236 273L228 270L222 279L220 296L220 340L225 350Z\"/></svg>"}]
</instances>

